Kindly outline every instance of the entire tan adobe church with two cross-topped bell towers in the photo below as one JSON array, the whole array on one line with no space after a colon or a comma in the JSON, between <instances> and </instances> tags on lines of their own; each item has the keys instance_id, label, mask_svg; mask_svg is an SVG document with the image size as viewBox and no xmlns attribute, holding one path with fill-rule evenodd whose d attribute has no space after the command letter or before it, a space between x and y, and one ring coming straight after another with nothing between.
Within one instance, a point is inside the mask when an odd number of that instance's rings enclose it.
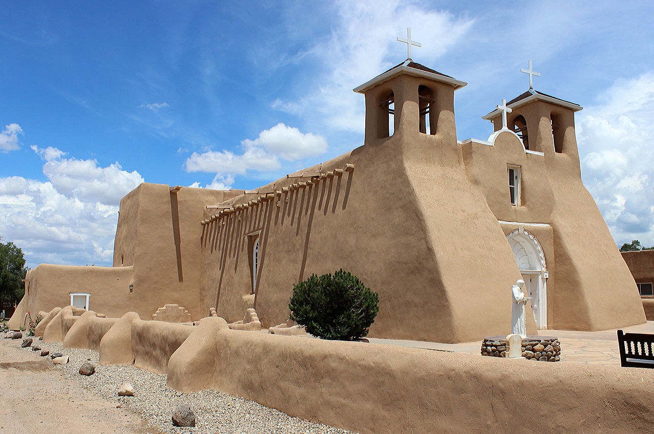
<instances>
[{"instance_id":1,"label":"entire tan adobe church with two cross-topped bell towers","mask_svg":"<svg viewBox=\"0 0 654 434\"><path fill-rule=\"evenodd\" d=\"M457 141L466 83L408 57L354 89L363 146L252 191L141 184L120 202L113 267L30 270L10 327L28 310L147 319L171 303L228 322L254 307L269 327L288 319L294 284L341 268L379 293L371 337L506 335L519 278L533 297L528 333L645 322L581 182L581 107L534 90L530 63L527 92L483 116L489 139Z\"/></svg>"}]
</instances>

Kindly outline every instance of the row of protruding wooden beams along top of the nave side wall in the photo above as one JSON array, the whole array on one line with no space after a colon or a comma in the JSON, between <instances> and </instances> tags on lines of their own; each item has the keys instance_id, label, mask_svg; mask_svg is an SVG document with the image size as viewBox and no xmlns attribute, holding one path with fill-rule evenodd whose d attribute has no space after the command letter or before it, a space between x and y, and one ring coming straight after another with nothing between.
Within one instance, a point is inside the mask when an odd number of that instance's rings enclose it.
<instances>
[{"instance_id":1,"label":"row of protruding wooden beams along top of the nave side wall","mask_svg":"<svg viewBox=\"0 0 654 434\"><path fill-rule=\"evenodd\" d=\"M354 171L354 165L353 164L346 164L343 169L334 169L333 171L328 171L324 173L320 172L303 172L303 173L296 173L293 175L286 175L286 178L309 178L306 181L302 182L296 182L295 184L291 184L288 187L282 187L281 190L274 190L273 188L260 188L258 190L245 190L245 194L258 194L260 195L256 199L253 199L251 201L248 201L246 203L239 203L238 205L207 205L207 209L218 209L218 214L214 214L210 218L207 218L205 220L202 220L200 223L202 225L207 225L211 222L214 222L217 220L219 217L226 215L226 214L232 214L232 212L237 212L243 209L247 209L249 207L252 207L252 205L256 205L258 203L262 203L265 201L269 201L270 199L273 199L274 197L279 197L284 193L288 192L294 192L295 190L298 190L300 188L306 188L307 186L311 186L311 184L318 184L320 180L323 179L328 179L328 178L334 178L334 176L341 176L345 172L352 172Z\"/></svg>"}]
</instances>

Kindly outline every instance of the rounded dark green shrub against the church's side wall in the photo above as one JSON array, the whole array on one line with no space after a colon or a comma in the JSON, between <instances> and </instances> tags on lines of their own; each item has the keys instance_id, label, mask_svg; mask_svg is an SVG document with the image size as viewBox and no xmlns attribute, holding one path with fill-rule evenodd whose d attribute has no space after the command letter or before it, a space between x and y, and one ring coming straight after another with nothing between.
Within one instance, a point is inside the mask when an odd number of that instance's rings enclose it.
<instances>
[{"instance_id":1,"label":"rounded dark green shrub against the church's side wall","mask_svg":"<svg viewBox=\"0 0 654 434\"><path fill-rule=\"evenodd\" d=\"M342 269L311 275L293 287L290 319L322 339L351 341L368 335L379 312L379 295Z\"/></svg>"}]
</instances>

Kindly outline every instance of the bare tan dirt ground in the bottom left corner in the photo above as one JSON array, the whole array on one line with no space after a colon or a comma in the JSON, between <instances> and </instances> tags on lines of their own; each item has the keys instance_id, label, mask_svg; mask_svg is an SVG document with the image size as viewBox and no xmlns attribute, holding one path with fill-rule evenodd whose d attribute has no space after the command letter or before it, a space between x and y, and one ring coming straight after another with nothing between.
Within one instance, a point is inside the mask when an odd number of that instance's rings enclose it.
<instances>
[{"instance_id":1,"label":"bare tan dirt ground in the bottom left corner","mask_svg":"<svg viewBox=\"0 0 654 434\"><path fill-rule=\"evenodd\" d=\"M153 433L129 410L70 384L50 357L0 339L0 433Z\"/></svg>"}]
</instances>

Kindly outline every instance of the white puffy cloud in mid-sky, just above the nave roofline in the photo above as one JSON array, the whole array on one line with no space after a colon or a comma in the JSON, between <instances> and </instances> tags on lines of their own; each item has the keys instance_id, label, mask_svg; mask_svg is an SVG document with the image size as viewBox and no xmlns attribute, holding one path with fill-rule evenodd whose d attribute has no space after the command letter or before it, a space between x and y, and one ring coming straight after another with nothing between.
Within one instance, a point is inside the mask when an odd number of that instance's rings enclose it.
<instances>
[{"instance_id":1,"label":"white puffy cloud in mid-sky, just above the nave roofline","mask_svg":"<svg viewBox=\"0 0 654 434\"><path fill-rule=\"evenodd\" d=\"M299 129L277 124L254 140L241 142L242 154L230 150L194 152L186 159L186 171L216 173L213 186L229 186L233 175L248 171L269 172L281 169L279 159L298 161L327 150L327 141L320 135L301 133Z\"/></svg>"}]
</instances>

